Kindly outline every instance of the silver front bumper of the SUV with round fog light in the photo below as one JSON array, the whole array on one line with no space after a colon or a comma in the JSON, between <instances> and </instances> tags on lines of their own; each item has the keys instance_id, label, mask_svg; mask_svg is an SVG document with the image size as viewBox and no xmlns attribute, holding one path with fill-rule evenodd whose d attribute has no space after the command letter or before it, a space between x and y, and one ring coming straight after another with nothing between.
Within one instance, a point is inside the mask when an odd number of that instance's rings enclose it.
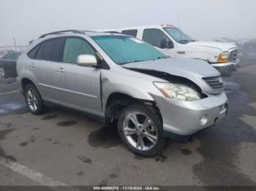
<instances>
[{"instance_id":1,"label":"silver front bumper of the SUV with round fog light","mask_svg":"<svg viewBox=\"0 0 256 191\"><path fill-rule=\"evenodd\" d=\"M151 95L162 115L165 136L190 136L222 120L227 114L227 96L208 95L197 101L179 101ZM170 137L170 136L169 136Z\"/></svg>"}]
</instances>

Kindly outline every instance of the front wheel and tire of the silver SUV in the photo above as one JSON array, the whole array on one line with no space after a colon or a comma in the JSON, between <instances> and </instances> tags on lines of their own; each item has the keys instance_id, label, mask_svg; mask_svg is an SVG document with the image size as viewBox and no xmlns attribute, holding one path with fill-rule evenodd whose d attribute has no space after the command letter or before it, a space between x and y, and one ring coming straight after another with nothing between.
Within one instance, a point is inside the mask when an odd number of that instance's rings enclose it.
<instances>
[{"instance_id":1,"label":"front wheel and tire of the silver SUV","mask_svg":"<svg viewBox=\"0 0 256 191\"><path fill-rule=\"evenodd\" d=\"M143 157L159 155L165 144L162 120L143 105L127 106L121 112L118 133L132 152Z\"/></svg>"}]
</instances>

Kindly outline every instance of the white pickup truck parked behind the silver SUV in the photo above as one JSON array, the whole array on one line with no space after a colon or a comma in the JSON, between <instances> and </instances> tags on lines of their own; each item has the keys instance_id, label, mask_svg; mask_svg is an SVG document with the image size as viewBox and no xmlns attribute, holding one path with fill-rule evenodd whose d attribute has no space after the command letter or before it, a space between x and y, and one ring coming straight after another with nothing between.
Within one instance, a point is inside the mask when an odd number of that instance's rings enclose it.
<instances>
[{"instance_id":1,"label":"white pickup truck parked behind the silver SUV","mask_svg":"<svg viewBox=\"0 0 256 191\"><path fill-rule=\"evenodd\" d=\"M195 41L172 25L135 26L99 31L135 36L157 47L172 58L202 59L214 66L222 74L222 77L229 77L233 71L236 71L239 63L236 45Z\"/></svg>"}]
</instances>

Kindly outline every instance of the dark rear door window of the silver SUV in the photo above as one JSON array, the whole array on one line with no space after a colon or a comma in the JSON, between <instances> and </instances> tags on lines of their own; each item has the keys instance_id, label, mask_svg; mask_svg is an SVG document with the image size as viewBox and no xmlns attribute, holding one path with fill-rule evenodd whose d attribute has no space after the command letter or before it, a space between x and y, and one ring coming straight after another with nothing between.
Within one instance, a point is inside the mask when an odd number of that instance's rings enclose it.
<instances>
[{"instance_id":1,"label":"dark rear door window of the silver SUV","mask_svg":"<svg viewBox=\"0 0 256 191\"><path fill-rule=\"evenodd\" d=\"M42 60L58 61L60 40L61 39L50 39L43 43Z\"/></svg>"}]
</instances>

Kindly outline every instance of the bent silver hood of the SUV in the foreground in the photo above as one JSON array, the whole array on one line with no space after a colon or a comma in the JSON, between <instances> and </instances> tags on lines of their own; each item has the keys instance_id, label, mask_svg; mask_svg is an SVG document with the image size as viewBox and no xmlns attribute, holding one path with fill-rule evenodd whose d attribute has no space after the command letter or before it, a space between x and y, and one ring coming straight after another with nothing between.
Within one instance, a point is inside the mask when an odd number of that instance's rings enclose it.
<instances>
[{"instance_id":1,"label":"bent silver hood of the SUV in the foreground","mask_svg":"<svg viewBox=\"0 0 256 191\"><path fill-rule=\"evenodd\" d=\"M222 90L214 90L203 77L218 77L219 71L214 69L206 61L196 59L162 58L155 61L143 61L127 63L123 65L126 69L140 69L148 71L160 71L173 76L184 77L197 84L204 93L217 94Z\"/></svg>"}]
</instances>

